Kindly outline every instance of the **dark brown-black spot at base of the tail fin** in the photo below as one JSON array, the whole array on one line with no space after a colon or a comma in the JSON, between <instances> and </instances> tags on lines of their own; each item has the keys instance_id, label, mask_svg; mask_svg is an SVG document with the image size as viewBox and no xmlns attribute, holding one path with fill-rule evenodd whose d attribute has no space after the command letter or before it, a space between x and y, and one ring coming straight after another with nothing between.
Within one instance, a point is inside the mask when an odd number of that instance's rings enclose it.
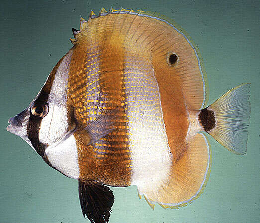
<instances>
[{"instance_id":1,"label":"dark brown-black spot at base of the tail fin","mask_svg":"<svg viewBox=\"0 0 260 223\"><path fill-rule=\"evenodd\" d=\"M206 132L209 132L216 125L215 115L212 110L202 109L199 113L199 122Z\"/></svg>"}]
</instances>

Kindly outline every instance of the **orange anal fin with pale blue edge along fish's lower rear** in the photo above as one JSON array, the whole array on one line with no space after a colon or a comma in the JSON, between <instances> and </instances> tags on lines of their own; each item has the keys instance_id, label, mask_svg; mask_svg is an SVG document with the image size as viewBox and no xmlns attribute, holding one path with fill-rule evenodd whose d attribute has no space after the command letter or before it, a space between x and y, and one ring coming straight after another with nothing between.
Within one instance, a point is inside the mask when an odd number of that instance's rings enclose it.
<instances>
[{"instance_id":1,"label":"orange anal fin with pale blue edge along fish's lower rear","mask_svg":"<svg viewBox=\"0 0 260 223\"><path fill-rule=\"evenodd\" d=\"M173 164L168 179L157 189L139 193L144 194L147 202L164 208L186 206L203 192L210 167L210 146L206 136L197 133L188 142L182 157Z\"/></svg>"}]
</instances>

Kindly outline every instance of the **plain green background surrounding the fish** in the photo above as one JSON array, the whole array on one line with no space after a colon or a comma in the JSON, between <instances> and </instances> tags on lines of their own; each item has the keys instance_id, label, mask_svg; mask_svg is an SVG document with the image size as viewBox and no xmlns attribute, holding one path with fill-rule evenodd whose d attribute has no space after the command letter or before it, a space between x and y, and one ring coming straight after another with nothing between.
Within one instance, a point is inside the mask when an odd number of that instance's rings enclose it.
<instances>
[{"instance_id":1,"label":"plain green background surrounding the fish","mask_svg":"<svg viewBox=\"0 0 260 223\"><path fill-rule=\"evenodd\" d=\"M153 211L137 188L112 188L111 223L260 222L260 3L233 0L0 1L0 222L88 222L78 182L48 167L21 138L5 130L8 118L38 93L58 60L72 47L71 28L101 7L156 11L174 19L199 45L209 103L251 83L247 155L210 138L212 170L204 193L179 210Z\"/></svg>"}]
</instances>

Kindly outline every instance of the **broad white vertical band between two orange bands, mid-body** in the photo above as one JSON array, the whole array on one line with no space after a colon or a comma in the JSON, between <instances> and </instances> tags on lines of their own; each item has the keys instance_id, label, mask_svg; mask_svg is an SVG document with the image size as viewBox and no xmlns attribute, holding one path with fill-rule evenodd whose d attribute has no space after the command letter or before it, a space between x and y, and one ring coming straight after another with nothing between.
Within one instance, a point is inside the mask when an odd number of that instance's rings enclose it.
<instances>
[{"instance_id":1,"label":"broad white vertical band between two orange bands, mid-body","mask_svg":"<svg viewBox=\"0 0 260 223\"><path fill-rule=\"evenodd\" d=\"M162 118L159 88L149 55L145 51L132 55L128 53L125 61L126 113L133 166L131 184L147 185L147 179L153 175L153 185L159 187L169 174L171 158L168 155L170 148Z\"/></svg>"}]
</instances>

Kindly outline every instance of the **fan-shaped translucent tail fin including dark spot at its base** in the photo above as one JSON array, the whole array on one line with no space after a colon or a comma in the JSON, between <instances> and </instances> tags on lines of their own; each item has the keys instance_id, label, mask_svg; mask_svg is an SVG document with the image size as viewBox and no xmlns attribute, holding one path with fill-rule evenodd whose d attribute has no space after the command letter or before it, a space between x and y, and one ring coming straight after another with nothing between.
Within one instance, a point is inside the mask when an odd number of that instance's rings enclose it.
<instances>
[{"instance_id":1,"label":"fan-shaped translucent tail fin including dark spot at its base","mask_svg":"<svg viewBox=\"0 0 260 223\"><path fill-rule=\"evenodd\" d=\"M205 131L228 150L240 155L247 151L249 88L247 83L232 88L199 114Z\"/></svg>"}]
</instances>

